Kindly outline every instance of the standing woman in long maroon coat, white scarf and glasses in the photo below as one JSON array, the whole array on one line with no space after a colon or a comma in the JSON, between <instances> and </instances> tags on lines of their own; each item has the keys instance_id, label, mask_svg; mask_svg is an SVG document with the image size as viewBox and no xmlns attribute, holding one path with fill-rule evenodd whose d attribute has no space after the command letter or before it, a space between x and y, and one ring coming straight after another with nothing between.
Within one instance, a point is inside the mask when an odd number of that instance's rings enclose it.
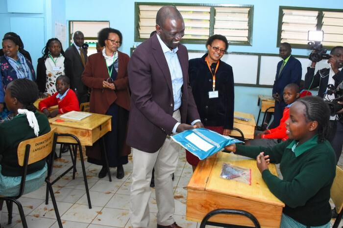
<instances>
[{"instance_id":1,"label":"standing woman in long maroon coat, white scarf and glasses","mask_svg":"<svg viewBox=\"0 0 343 228\"><path fill-rule=\"evenodd\" d=\"M90 112L112 116L112 131L104 137L110 167L117 167L117 178L124 177L123 165L128 162L130 147L125 144L130 98L127 80L128 55L118 51L122 33L113 28L104 28L98 33L98 42L105 46L102 52L88 57L82 82L92 88ZM88 162L102 165L98 174L107 174L98 144L87 147Z\"/></svg>"}]
</instances>

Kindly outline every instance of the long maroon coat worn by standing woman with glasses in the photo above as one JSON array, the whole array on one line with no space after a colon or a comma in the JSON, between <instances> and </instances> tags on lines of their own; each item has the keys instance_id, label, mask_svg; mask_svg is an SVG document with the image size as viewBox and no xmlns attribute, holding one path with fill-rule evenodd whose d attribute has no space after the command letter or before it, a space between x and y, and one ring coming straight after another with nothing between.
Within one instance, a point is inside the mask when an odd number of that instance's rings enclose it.
<instances>
[{"instance_id":1,"label":"long maroon coat worn by standing woman with glasses","mask_svg":"<svg viewBox=\"0 0 343 228\"><path fill-rule=\"evenodd\" d=\"M130 109L130 94L128 90L127 65L130 57L118 51L118 76L114 81L115 90L103 89L102 82L109 78L106 62L102 52L90 55L82 73L82 82L92 88L90 98L90 112L105 114L113 102L126 110ZM126 134L126 132L118 132ZM130 154L130 147L125 144L121 156ZM87 147L87 156L101 159L101 151L98 144Z\"/></svg>"}]
</instances>

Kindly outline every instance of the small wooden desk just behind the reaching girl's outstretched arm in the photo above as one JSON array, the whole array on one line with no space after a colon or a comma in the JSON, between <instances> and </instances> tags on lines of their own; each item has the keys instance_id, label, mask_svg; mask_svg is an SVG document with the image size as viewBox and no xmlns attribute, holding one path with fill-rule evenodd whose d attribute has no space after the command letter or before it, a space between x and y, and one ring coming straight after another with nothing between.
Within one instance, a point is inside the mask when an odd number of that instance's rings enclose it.
<instances>
[{"instance_id":1,"label":"small wooden desk just behind the reaching girl's outstretched arm","mask_svg":"<svg viewBox=\"0 0 343 228\"><path fill-rule=\"evenodd\" d=\"M243 120L233 118L233 127L240 129L243 132L245 139L253 139L256 126L254 115L250 113L236 111L233 115L250 119L250 121L246 122ZM241 134L237 131L232 131L230 136L241 136Z\"/></svg>"}]
</instances>

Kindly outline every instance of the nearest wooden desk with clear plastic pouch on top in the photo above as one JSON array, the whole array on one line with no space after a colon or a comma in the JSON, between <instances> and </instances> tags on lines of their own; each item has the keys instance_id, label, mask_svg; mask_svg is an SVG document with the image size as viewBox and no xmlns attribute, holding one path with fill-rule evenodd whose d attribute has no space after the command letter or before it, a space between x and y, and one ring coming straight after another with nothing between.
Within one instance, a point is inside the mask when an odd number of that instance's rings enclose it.
<instances>
[{"instance_id":1,"label":"nearest wooden desk with clear plastic pouch on top","mask_svg":"<svg viewBox=\"0 0 343 228\"><path fill-rule=\"evenodd\" d=\"M223 163L251 168L251 186L220 177ZM277 175L275 165L270 172ZM240 209L253 214L261 227L280 226L282 208L285 205L268 189L256 166L256 161L243 156L219 152L199 162L187 186L186 219L201 222L205 215L219 208ZM229 218L229 219L228 219ZM217 215L210 221L240 226L253 223L238 215Z\"/></svg>"}]
</instances>

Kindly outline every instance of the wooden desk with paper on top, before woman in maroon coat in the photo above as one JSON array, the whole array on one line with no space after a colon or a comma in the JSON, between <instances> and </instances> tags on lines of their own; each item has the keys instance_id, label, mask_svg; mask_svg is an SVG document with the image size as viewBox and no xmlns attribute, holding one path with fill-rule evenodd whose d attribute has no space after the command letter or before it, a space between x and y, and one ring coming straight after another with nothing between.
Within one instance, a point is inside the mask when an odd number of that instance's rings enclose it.
<instances>
[{"instance_id":1,"label":"wooden desk with paper on top, before woman in maroon coat","mask_svg":"<svg viewBox=\"0 0 343 228\"><path fill-rule=\"evenodd\" d=\"M62 120L63 122L57 122ZM60 115L49 119L51 127L57 127L57 133L73 134L81 145L93 145L98 139L111 131L111 116L92 113L92 115L78 121L61 118ZM72 143L76 141L70 137L58 137L58 143Z\"/></svg>"}]
</instances>

